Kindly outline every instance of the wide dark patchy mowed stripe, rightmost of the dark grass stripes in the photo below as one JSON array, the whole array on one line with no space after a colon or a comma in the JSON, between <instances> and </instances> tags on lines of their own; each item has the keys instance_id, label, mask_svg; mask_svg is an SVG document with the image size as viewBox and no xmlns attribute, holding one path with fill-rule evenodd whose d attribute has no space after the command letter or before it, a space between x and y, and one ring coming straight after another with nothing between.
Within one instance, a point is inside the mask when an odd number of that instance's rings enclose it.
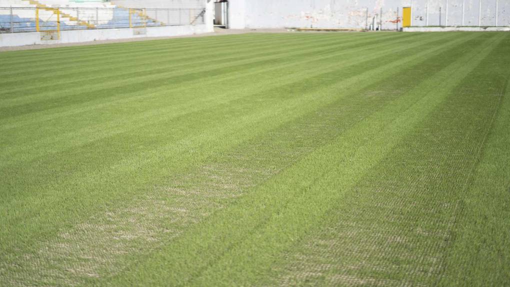
<instances>
[{"instance_id":1,"label":"wide dark patchy mowed stripe, rightmost of the dark grass stripes","mask_svg":"<svg viewBox=\"0 0 510 287\"><path fill-rule=\"evenodd\" d=\"M498 79L497 70L488 72L493 61L505 58L505 42L488 43L492 53L476 61L439 109L323 218L331 223L279 262L287 265L287 272L283 268L275 274L280 284L438 284L452 240L454 210L499 106L487 87L501 88L508 80ZM478 82L484 77L491 79L487 86ZM467 95L466 89L473 93ZM301 275L304 270L307 276Z\"/></svg>"}]
</instances>

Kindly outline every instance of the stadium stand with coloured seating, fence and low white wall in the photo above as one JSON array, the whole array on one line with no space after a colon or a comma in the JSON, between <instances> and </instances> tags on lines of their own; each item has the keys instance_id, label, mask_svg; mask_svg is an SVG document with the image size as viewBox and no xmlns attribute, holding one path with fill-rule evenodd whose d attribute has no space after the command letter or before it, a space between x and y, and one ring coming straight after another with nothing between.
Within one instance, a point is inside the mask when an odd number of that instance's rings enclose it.
<instances>
[{"instance_id":1,"label":"stadium stand with coloured seating, fence and low white wall","mask_svg":"<svg viewBox=\"0 0 510 287\"><path fill-rule=\"evenodd\" d=\"M0 47L211 32L212 16L206 13L211 9L206 9L206 3L0 0ZM206 17L211 18L210 24L206 24Z\"/></svg>"}]
</instances>

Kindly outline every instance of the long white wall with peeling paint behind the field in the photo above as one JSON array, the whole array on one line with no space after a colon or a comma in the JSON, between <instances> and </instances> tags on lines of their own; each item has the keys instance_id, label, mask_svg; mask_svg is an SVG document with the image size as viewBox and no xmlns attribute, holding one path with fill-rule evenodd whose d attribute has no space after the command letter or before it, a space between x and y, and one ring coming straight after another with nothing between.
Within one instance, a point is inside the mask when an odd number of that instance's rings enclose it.
<instances>
[{"instance_id":1,"label":"long white wall with peeling paint behind the field","mask_svg":"<svg viewBox=\"0 0 510 287\"><path fill-rule=\"evenodd\" d=\"M367 28L379 24L382 8L382 28L396 29L402 7L412 7L412 25L477 26L479 14L482 26L510 25L510 0L230 0L231 28ZM481 13L480 12L481 1ZM427 13L428 2L428 13ZM447 13L448 12L448 16ZM399 27L401 27L399 23Z\"/></svg>"}]
</instances>

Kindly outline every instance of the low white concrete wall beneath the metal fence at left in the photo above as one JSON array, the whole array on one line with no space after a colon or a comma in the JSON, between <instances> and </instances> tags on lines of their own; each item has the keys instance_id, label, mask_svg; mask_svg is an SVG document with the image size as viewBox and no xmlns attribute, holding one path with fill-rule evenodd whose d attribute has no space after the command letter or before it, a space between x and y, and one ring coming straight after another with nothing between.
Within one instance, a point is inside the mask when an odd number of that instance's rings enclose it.
<instances>
[{"instance_id":1,"label":"low white concrete wall beneath the metal fence at left","mask_svg":"<svg viewBox=\"0 0 510 287\"><path fill-rule=\"evenodd\" d=\"M40 33L6 33L0 34L0 47L38 45L38 44L61 44L79 43L98 40L113 40L143 37L183 36L208 32L207 25L182 25L148 27L146 34L134 35L134 29L104 29L104 30L75 30L61 31L60 40L41 41Z\"/></svg>"}]
</instances>

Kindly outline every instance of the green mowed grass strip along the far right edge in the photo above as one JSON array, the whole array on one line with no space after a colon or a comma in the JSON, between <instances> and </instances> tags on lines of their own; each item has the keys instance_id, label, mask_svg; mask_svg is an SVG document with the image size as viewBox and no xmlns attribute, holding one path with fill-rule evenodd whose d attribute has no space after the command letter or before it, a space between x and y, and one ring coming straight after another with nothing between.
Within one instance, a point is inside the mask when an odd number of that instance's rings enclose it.
<instances>
[{"instance_id":1,"label":"green mowed grass strip along the far right edge","mask_svg":"<svg viewBox=\"0 0 510 287\"><path fill-rule=\"evenodd\" d=\"M499 59L505 65L508 60L508 57ZM510 281L507 252L510 222L502 220L510 218L510 150L507 148L510 146L507 136L510 134L510 74L505 72L501 71L499 76L506 76L508 84L500 92L499 110L452 228L453 240L444 256L443 276L438 283L442 286L502 285Z\"/></svg>"}]
</instances>

